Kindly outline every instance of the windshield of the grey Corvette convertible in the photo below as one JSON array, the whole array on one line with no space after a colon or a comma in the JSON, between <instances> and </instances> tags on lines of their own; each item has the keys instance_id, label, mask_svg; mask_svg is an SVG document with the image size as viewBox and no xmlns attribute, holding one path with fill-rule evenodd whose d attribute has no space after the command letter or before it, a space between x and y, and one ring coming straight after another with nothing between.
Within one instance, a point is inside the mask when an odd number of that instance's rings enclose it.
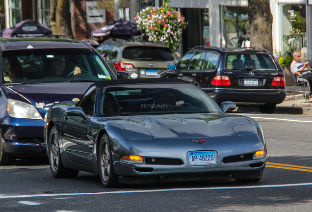
<instances>
[{"instance_id":1,"label":"windshield of the grey Corvette convertible","mask_svg":"<svg viewBox=\"0 0 312 212\"><path fill-rule=\"evenodd\" d=\"M114 85L98 89L99 116L221 113L220 107L192 84Z\"/></svg>"}]
</instances>

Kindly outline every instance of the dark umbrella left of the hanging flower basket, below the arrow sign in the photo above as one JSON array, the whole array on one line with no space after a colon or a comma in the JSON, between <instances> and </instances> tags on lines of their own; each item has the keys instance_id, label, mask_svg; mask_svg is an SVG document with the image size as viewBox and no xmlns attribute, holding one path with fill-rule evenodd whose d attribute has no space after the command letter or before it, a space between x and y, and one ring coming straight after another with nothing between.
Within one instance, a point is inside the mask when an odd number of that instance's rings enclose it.
<instances>
[{"instance_id":1,"label":"dark umbrella left of the hanging flower basket, below the arrow sign","mask_svg":"<svg viewBox=\"0 0 312 212\"><path fill-rule=\"evenodd\" d=\"M106 36L110 35L111 37L119 35L140 35L141 32L138 30L136 24L133 24L129 21L120 19L114 21L112 24L105 27L98 28L91 32L91 36Z\"/></svg>"}]
</instances>

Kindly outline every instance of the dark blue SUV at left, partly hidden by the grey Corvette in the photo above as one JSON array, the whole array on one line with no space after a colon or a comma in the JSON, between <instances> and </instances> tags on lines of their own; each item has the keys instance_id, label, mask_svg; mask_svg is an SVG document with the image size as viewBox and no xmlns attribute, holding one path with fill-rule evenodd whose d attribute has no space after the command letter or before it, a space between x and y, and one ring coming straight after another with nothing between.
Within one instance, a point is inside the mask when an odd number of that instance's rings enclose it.
<instances>
[{"instance_id":1,"label":"dark blue SUV at left, partly hidden by the grey Corvette","mask_svg":"<svg viewBox=\"0 0 312 212\"><path fill-rule=\"evenodd\" d=\"M5 38L0 47L0 165L45 154L49 106L80 99L95 81L116 79L103 57L81 41Z\"/></svg>"}]
</instances>

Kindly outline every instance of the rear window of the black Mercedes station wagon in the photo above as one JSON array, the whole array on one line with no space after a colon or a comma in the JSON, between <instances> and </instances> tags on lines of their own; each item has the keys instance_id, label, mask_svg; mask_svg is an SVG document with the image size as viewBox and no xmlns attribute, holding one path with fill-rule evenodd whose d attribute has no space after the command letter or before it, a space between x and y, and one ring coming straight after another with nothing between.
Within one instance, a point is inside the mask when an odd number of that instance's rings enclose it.
<instances>
[{"instance_id":1,"label":"rear window of the black Mercedes station wagon","mask_svg":"<svg viewBox=\"0 0 312 212\"><path fill-rule=\"evenodd\" d=\"M228 53L225 60L228 70L256 69L260 71L275 71L273 59L268 54L261 53Z\"/></svg>"}]
</instances>

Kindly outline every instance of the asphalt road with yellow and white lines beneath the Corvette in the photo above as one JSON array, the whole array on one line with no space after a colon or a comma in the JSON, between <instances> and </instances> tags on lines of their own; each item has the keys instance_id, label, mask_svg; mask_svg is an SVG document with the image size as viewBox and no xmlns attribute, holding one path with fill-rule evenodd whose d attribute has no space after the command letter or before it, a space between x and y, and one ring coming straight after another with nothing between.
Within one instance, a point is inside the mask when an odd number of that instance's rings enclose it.
<instances>
[{"instance_id":1,"label":"asphalt road with yellow and white lines beneath the Corvette","mask_svg":"<svg viewBox=\"0 0 312 212\"><path fill-rule=\"evenodd\" d=\"M47 158L0 166L0 212L309 212L312 211L312 116L244 114L264 132L268 159L258 183L234 180L121 185L97 175L54 179Z\"/></svg>"}]
</instances>

